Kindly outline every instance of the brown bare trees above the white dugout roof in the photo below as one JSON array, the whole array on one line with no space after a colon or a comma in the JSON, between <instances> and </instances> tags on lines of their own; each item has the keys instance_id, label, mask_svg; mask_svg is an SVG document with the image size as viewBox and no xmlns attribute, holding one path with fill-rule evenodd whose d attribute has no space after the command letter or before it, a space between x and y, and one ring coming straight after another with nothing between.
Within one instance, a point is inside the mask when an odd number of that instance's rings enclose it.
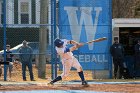
<instances>
[{"instance_id":1,"label":"brown bare trees above the white dugout roof","mask_svg":"<svg viewBox=\"0 0 140 93\"><path fill-rule=\"evenodd\" d=\"M113 18L135 18L138 6L140 7L140 0L113 0Z\"/></svg>"}]
</instances>

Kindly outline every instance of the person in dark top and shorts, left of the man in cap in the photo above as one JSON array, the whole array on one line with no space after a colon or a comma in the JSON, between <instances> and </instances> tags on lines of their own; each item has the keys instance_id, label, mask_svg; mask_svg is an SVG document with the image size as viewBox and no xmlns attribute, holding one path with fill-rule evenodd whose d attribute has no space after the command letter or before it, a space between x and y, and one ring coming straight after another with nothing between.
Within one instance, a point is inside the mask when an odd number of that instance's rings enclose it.
<instances>
[{"instance_id":1,"label":"person in dark top and shorts, left of the man in cap","mask_svg":"<svg viewBox=\"0 0 140 93\"><path fill-rule=\"evenodd\" d=\"M3 55L4 56L4 55ZM12 69L13 69L13 54L10 51L10 45L6 45L6 61L9 62L9 65L6 65L6 71L8 72L9 70L9 80L12 77ZM6 73L7 73L6 72Z\"/></svg>"}]
</instances>

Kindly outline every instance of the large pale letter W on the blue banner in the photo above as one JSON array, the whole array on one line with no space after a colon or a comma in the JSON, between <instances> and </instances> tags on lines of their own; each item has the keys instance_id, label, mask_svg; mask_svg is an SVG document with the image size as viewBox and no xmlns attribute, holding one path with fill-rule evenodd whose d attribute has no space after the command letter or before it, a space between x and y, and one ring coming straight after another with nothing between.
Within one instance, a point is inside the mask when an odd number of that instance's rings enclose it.
<instances>
[{"instance_id":1,"label":"large pale letter W on the blue banner","mask_svg":"<svg viewBox=\"0 0 140 93\"><path fill-rule=\"evenodd\" d=\"M70 24L70 29L72 33L72 38L76 41L80 41L80 36L81 36L81 30L82 30L82 25L85 24L85 31L86 31L86 36L87 40L93 40L95 37L96 29L97 29L97 24L98 24L98 18L99 14L102 11L101 7L95 7L94 11L95 13L95 20L93 24L93 19L92 19L92 7L64 7L64 10L66 10L68 14L68 20ZM80 18L77 18L77 12L81 11L81 15L78 16ZM79 23L78 23L78 20ZM89 45L89 50L93 49L93 44Z\"/></svg>"}]
</instances>

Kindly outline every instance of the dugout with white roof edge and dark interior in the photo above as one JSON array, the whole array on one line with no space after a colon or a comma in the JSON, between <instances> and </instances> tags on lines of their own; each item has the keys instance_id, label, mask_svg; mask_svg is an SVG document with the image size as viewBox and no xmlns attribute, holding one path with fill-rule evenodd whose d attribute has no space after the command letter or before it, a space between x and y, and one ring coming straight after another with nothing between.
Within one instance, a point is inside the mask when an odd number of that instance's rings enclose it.
<instances>
[{"instance_id":1,"label":"dugout with white roof edge and dark interior","mask_svg":"<svg viewBox=\"0 0 140 93\"><path fill-rule=\"evenodd\" d=\"M140 38L140 19L119 18L113 19L112 22L112 37L119 37L119 42L123 44L125 49L124 61L126 62L130 75L133 76L135 62L134 45L137 43L136 39ZM140 69L137 72L137 77L140 77Z\"/></svg>"}]
</instances>

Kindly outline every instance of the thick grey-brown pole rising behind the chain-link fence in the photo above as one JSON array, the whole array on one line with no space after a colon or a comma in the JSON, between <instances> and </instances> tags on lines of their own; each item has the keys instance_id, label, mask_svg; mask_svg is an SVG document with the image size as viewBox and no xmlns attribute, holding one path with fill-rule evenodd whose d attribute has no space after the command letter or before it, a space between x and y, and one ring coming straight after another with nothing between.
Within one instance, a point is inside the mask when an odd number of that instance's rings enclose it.
<instances>
[{"instance_id":1,"label":"thick grey-brown pole rising behind the chain-link fence","mask_svg":"<svg viewBox=\"0 0 140 93\"><path fill-rule=\"evenodd\" d=\"M48 6L49 0L40 0L40 31L39 31L39 63L38 77L46 78L46 47L48 33Z\"/></svg>"}]
</instances>

